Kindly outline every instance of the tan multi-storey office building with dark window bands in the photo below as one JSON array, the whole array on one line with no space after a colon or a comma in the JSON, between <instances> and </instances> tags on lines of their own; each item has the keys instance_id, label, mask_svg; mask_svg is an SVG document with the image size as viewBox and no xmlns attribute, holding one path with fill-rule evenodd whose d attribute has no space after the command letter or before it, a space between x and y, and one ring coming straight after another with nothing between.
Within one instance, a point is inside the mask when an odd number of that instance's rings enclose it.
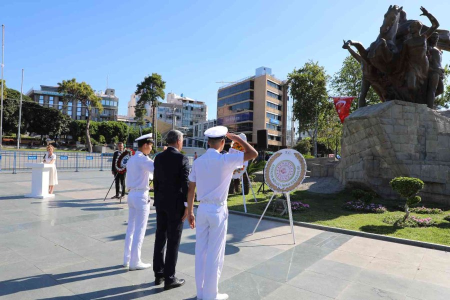
<instances>
[{"instance_id":1,"label":"tan multi-storey office building with dark window bands","mask_svg":"<svg viewBox=\"0 0 450 300\"><path fill-rule=\"evenodd\" d=\"M256 144L256 131L267 129L269 149L291 146L298 127L292 119L292 99L285 81L268 67L255 74L221 86L217 91L217 125L244 133Z\"/></svg>"}]
</instances>

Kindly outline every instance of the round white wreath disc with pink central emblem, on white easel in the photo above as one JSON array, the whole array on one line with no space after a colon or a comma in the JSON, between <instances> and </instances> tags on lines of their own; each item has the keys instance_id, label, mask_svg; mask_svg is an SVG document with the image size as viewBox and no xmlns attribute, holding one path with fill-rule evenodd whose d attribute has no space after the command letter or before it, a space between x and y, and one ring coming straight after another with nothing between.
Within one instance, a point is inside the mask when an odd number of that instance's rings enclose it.
<instances>
[{"instance_id":1,"label":"round white wreath disc with pink central emblem, on white easel","mask_svg":"<svg viewBox=\"0 0 450 300\"><path fill-rule=\"evenodd\" d=\"M274 192L295 190L306 175L306 161L296 150L281 149L273 153L264 167L264 178Z\"/></svg>"}]
</instances>

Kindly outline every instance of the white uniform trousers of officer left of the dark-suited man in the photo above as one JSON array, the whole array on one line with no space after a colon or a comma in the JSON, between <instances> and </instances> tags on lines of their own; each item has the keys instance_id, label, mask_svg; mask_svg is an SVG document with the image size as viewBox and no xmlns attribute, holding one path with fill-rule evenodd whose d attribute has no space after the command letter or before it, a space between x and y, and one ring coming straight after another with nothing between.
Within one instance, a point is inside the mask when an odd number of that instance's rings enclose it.
<instances>
[{"instance_id":1,"label":"white uniform trousers of officer left of the dark-suited man","mask_svg":"<svg viewBox=\"0 0 450 300\"><path fill-rule=\"evenodd\" d=\"M140 261L140 248L147 228L150 204L148 190L130 191L128 193L128 226L125 234L125 253L123 263L129 262L130 267Z\"/></svg>"}]
</instances>

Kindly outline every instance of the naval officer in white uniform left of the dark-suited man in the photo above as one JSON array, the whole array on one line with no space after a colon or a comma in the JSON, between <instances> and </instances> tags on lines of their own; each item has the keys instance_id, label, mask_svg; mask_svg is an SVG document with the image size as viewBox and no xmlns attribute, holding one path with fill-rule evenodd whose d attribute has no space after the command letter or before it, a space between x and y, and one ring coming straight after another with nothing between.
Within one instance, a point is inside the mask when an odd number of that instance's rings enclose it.
<instances>
[{"instance_id":1,"label":"naval officer in white uniform left of the dark-suited man","mask_svg":"<svg viewBox=\"0 0 450 300\"><path fill-rule=\"evenodd\" d=\"M148 213L150 212L150 197L148 181L153 172L153 160L148 157L153 144L151 133L135 139L137 151L126 163L126 187L128 192L128 226L125 234L125 253L123 266L130 270L141 270L151 266L140 260L140 248L145 236Z\"/></svg>"}]
</instances>

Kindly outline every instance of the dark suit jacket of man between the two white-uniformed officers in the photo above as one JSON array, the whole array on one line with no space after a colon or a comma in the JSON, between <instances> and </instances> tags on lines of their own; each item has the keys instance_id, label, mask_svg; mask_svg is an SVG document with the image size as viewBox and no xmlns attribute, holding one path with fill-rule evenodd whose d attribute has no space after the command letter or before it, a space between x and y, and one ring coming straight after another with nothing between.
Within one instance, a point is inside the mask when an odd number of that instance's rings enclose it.
<instances>
[{"instance_id":1,"label":"dark suit jacket of man between the two white-uniformed officers","mask_svg":"<svg viewBox=\"0 0 450 300\"><path fill-rule=\"evenodd\" d=\"M166 210L184 209L189 184L189 159L173 147L154 158L154 206Z\"/></svg>"}]
</instances>

